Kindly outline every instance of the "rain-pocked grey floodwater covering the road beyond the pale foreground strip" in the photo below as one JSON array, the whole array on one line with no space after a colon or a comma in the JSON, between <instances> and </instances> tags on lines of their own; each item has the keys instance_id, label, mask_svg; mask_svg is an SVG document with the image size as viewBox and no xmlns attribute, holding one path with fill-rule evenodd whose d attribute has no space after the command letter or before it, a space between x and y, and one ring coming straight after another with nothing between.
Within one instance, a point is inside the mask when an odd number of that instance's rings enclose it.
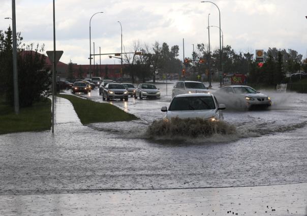
<instances>
[{"instance_id":1,"label":"rain-pocked grey floodwater covering the road beyond the pale foreground strip","mask_svg":"<svg viewBox=\"0 0 307 216\"><path fill-rule=\"evenodd\" d=\"M83 126L71 104L57 98L54 135L0 136L0 195L307 183L304 94L262 91L272 98L269 110L226 110L225 122L235 133L151 137L147 128L164 117L160 109L171 100L172 85L168 95L165 87L158 85L161 99L110 101L140 118L132 122ZM103 102L97 89L80 96Z\"/></svg>"}]
</instances>

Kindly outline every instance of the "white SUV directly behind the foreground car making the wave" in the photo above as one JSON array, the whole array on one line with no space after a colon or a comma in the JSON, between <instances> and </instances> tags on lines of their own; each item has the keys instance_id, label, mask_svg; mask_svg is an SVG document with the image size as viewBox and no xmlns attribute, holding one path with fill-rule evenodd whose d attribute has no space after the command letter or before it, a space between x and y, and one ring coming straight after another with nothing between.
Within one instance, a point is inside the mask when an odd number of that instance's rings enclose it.
<instances>
[{"instance_id":1,"label":"white SUV directly behind the foreground car making the wave","mask_svg":"<svg viewBox=\"0 0 307 216\"><path fill-rule=\"evenodd\" d=\"M210 93L210 92L201 82L178 81L174 85L172 97L178 94L191 94L191 93Z\"/></svg>"}]
</instances>

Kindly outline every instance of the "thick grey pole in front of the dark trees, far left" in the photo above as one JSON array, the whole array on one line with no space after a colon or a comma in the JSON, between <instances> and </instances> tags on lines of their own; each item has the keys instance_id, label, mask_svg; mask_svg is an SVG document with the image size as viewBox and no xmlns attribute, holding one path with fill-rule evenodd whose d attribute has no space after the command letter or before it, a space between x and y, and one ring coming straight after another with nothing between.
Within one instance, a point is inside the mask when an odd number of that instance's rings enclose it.
<instances>
[{"instance_id":1,"label":"thick grey pole in front of the dark trees, far left","mask_svg":"<svg viewBox=\"0 0 307 216\"><path fill-rule=\"evenodd\" d=\"M12 27L13 27L13 82L14 82L14 110L19 114L19 92L17 71L17 36L16 36L16 10L15 0L12 0Z\"/></svg>"}]
</instances>

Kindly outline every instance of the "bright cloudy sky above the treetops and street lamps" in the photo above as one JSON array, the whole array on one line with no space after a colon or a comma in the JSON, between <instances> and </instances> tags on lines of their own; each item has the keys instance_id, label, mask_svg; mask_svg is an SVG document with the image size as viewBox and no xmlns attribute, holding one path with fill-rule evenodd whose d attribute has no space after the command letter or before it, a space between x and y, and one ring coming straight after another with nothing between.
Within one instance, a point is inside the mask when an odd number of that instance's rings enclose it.
<instances>
[{"instance_id":1,"label":"bright cloudy sky above the treetops and street lamps","mask_svg":"<svg viewBox=\"0 0 307 216\"><path fill-rule=\"evenodd\" d=\"M211 0L221 11L224 45L236 52L252 52L268 47L294 49L306 57L306 0ZM12 1L0 0L0 29L11 24ZM208 14L210 25L219 26L219 12L211 3L195 0L55 0L56 49L63 50L60 61L88 64L89 19L91 42L99 53L120 52L120 25L123 44L131 51L134 41L152 45L166 42L179 46L182 39L185 56L192 55L192 44L208 43ZM53 50L53 17L51 0L16 0L16 27L24 42L45 44ZM218 48L219 28L210 28L210 44ZM92 48L93 53L93 48ZM96 62L99 57L96 58ZM102 57L102 63L120 63Z\"/></svg>"}]
</instances>

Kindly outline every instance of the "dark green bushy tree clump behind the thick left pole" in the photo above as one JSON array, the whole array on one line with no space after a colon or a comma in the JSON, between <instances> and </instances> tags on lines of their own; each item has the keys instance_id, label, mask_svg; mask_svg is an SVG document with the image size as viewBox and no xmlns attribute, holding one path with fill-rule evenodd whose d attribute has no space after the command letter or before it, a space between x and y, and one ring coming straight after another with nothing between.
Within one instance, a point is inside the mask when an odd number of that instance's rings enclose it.
<instances>
[{"instance_id":1,"label":"dark green bushy tree clump behind the thick left pole","mask_svg":"<svg viewBox=\"0 0 307 216\"><path fill-rule=\"evenodd\" d=\"M20 107L30 106L41 98L43 91L48 90L51 75L44 69L45 56L39 52L44 51L44 45L33 49L33 44L21 46L22 37L17 33L17 68ZM0 31L0 87L6 95L7 103L14 104L13 87L13 56L12 56L12 30L11 27Z\"/></svg>"}]
</instances>

